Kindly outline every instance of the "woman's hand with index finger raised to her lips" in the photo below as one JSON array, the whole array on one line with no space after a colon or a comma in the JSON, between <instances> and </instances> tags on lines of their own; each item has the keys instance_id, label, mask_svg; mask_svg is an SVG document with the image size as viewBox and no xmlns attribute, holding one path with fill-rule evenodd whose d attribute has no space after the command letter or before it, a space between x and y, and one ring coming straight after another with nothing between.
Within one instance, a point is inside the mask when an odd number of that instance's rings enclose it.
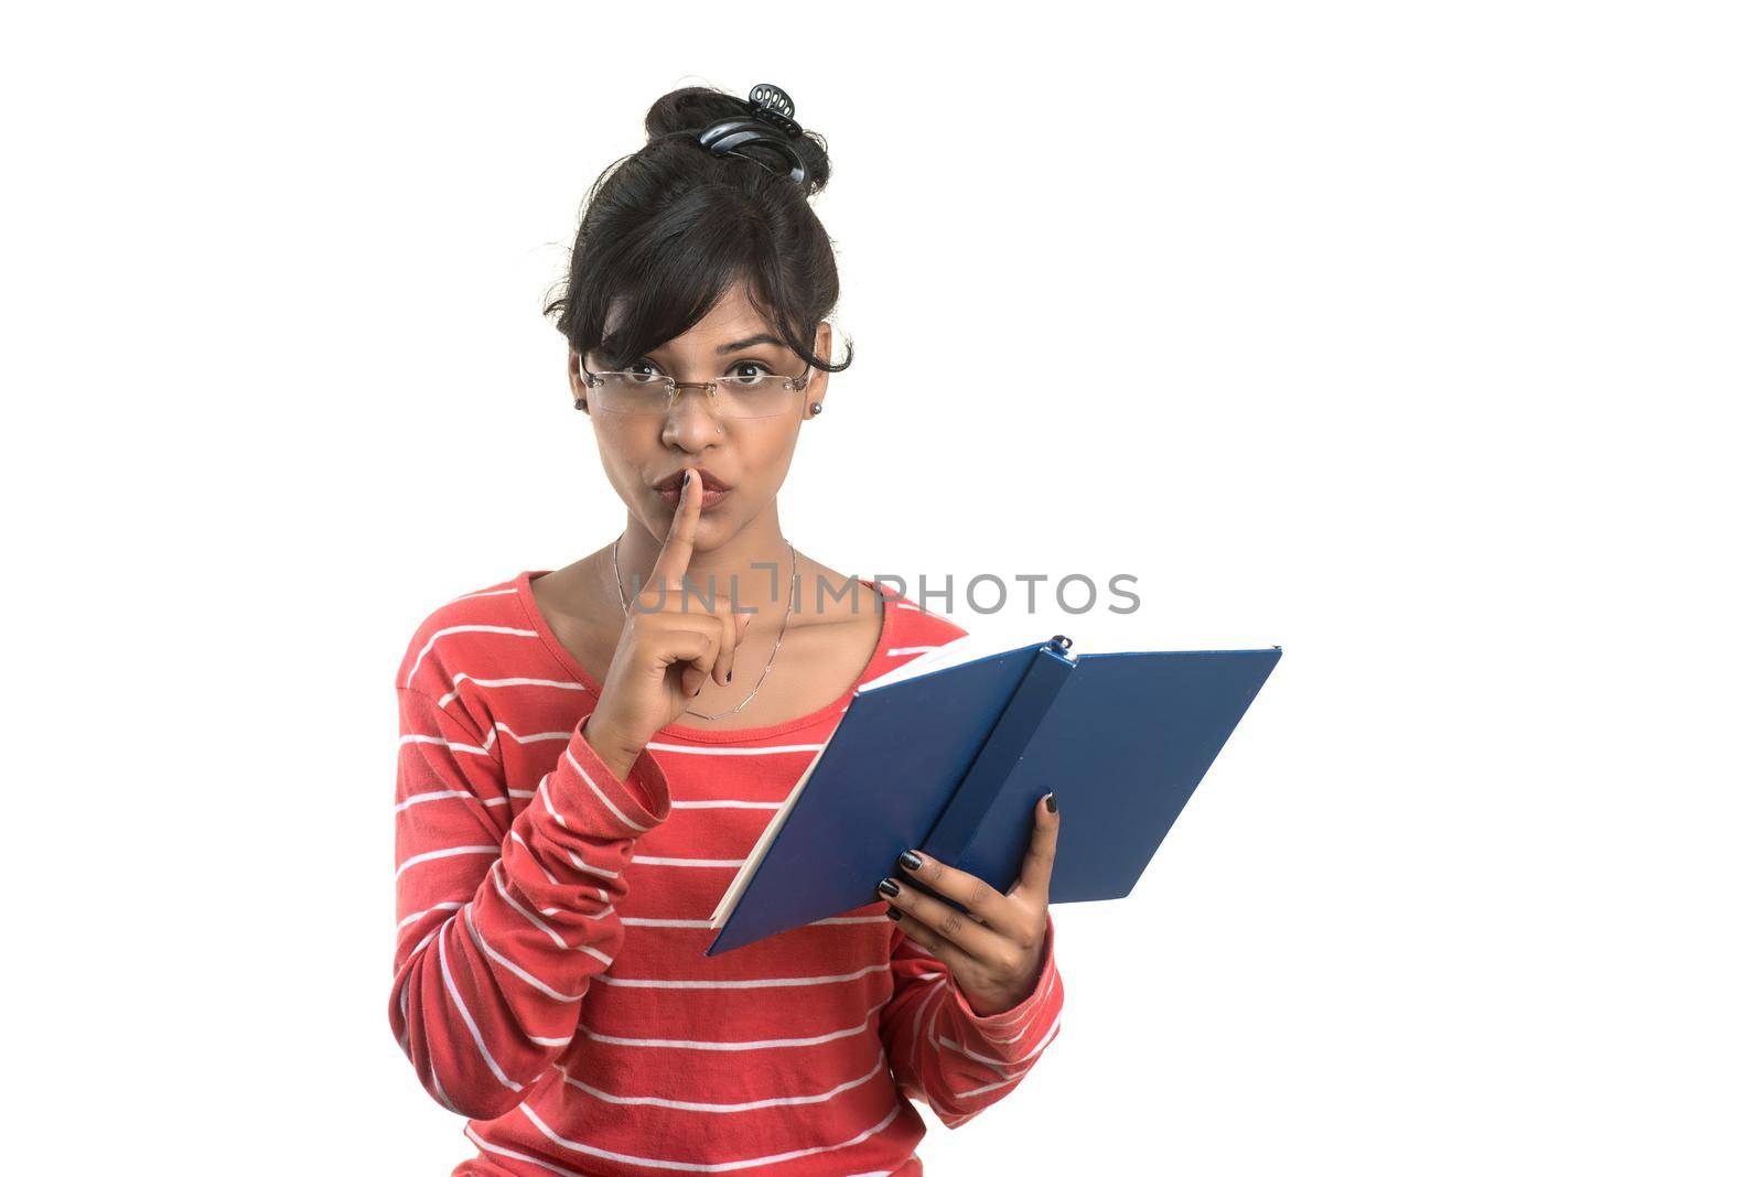
<instances>
[{"instance_id":1,"label":"woman's hand with index finger raised to her lips","mask_svg":"<svg viewBox=\"0 0 1764 1177\"><path fill-rule=\"evenodd\" d=\"M704 585L686 592L702 483L688 470L674 523L649 583L624 610L624 633L587 717L589 745L621 781L649 738L679 719L706 682L732 680L736 647L753 620L751 613L736 613L734 601L723 596L713 596L707 606Z\"/></svg>"}]
</instances>

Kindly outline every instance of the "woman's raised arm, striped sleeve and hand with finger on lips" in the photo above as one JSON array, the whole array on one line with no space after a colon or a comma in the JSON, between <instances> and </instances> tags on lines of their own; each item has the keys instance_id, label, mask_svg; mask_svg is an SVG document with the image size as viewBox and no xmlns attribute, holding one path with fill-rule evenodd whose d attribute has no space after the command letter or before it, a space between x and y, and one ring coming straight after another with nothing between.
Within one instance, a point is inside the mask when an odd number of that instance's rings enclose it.
<instances>
[{"instance_id":1,"label":"woman's raised arm, striped sleeve and hand with finger on lips","mask_svg":"<svg viewBox=\"0 0 1764 1177\"><path fill-rule=\"evenodd\" d=\"M413 689L415 661L402 671L390 1017L423 1087L460 1115L513 1108L570 1045L591 978L624 941L632 846L672 807L649 737L732 675L751 613L684 583L702 497L688 470L607 685L513 821L496 731ZM434 661L425 673L452 682Z\"/></svg>"}]
</instances>

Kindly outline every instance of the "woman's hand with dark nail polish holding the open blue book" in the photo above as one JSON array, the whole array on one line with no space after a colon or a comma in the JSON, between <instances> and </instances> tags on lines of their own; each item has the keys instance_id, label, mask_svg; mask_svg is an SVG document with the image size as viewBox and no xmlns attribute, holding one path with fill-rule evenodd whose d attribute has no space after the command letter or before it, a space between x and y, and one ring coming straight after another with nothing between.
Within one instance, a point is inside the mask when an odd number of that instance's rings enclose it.
<instances>
[{"instance_id":1,"label":"woman's hand with dark nail polish holding the open blue book","mask_svg":"<svg viewBox=\"0 0 1764 1177\"><path fill-rule=\"evenodd\" d=\"M907 939L949 966L961 996L975 1013L1002 1013L1035 990L1048 939L1048 883L1053 877L1053 844L1060 816L1050 805L1053 793L1035 802L1035 830L1023 855L1016 885L1004 895L979 876L956 870L923 851L900 856L900 872L919 860L912 876L967 907L946 904L889 877L877 895L889 904ZM894 895L887 888L894 886Z\"/></svg>"}]
</instances>

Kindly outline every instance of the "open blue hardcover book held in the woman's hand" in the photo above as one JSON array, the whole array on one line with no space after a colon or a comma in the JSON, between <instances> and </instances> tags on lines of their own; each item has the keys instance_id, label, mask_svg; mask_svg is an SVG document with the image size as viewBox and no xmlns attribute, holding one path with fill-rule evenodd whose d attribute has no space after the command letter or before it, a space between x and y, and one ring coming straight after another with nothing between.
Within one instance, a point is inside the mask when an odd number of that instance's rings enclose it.
<instances>
[{"instance_id":1,"label":"open blue hardcover book held in the woman's hand","mask_svg":"<svg viewBox=\"0 0 1764 1177\"><path fill-rule=\"evenodd\" d=\"M875 904L908 848L1007 892L1050 791L1048 900L1132 892L1281 648L1071 645L968 657L958 638L861 685L729 885L706 955Z\"/></svg>"}]
</instances>

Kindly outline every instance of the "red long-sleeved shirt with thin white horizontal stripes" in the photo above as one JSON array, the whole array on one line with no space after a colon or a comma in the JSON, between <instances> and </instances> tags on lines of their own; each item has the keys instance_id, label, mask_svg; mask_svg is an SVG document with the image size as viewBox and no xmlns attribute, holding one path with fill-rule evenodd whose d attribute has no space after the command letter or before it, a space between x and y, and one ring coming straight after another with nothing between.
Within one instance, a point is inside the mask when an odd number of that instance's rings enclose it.
<instances>
[{"instance_id":1,"label":"red long-sleeved shirt with thin white horizontal stripes","mask_svg":"<svg viewBox=\"0 0 1764 1177\"><path fill-rule=\"evenodd\" d=\"M598 684L540 615L542 574L448 601L399 666L390 1018L467 1117L478 1156L453 1177L921 1173L912 1099L963 1124L1058 1034L1051 918L1034 992L990 1017L880 899L706 957L850 694L764 728L670 724L619 781L582 733ZM961 634L887 596L857 682Z\"/></svg>"}]
</instances>

